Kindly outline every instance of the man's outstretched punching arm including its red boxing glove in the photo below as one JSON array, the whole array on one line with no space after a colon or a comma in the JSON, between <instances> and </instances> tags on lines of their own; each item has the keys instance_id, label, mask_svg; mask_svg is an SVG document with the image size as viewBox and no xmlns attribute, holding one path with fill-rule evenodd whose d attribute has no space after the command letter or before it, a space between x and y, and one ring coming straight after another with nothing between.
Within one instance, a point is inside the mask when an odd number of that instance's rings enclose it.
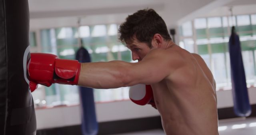
<instances>
[{"instance_id":1,"label":"man's outstretched punching arm including its red boxing glove","mask_svg":"<svg viewBox=\"0 0 256 135\"><path fill-rule=\"evenodd\" d=\"M138 63L123 61L78 63L59 59L52 54L32 53L28 63L30 89L37 84L52 83L81 85L98 89L152 84L161 81L180 67L182 60L175 52L152 50Z\"/></svg>"}]
</instances>

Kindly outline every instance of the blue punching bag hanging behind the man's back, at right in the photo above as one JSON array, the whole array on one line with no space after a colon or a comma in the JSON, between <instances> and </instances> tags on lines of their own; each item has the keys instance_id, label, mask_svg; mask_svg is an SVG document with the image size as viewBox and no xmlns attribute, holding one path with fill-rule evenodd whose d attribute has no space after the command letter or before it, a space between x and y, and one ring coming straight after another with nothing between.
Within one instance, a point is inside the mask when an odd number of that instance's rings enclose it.
<instances>
[{"instance_id":1,"label":"blue punching bag hanging behind the man's back, at right","mask_svg":"<svg viewBox=\"0 0 256 135\"><path fill-rule=\"evenodd\" d=\"M251 106L246 87L246 77L242 60L239 36L232 27L232 34L229 39L229 54L232 80L232 94L234 111L237 116L247 117L251 114Z\"/></svg>"}]
</instances>

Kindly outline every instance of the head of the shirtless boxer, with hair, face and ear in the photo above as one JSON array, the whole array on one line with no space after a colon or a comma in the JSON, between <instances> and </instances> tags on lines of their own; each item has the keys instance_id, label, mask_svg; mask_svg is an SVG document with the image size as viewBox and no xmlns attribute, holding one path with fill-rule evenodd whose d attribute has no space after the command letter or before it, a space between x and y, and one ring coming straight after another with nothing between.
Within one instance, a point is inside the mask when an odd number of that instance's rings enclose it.
<instances>
[{"instance_id":1,"label":"head of the shirtless boxer, with hair, face and ear","mask_svg":"<svg viewBox=\"0 0 256 135\"><path fill-rule=\"evenodd\" d=\"M119 40L132 51L133 60L142 60L160 41L172 40L164 20L153 9L138 10L119 28Z\"/></svg>"}]
</instances>

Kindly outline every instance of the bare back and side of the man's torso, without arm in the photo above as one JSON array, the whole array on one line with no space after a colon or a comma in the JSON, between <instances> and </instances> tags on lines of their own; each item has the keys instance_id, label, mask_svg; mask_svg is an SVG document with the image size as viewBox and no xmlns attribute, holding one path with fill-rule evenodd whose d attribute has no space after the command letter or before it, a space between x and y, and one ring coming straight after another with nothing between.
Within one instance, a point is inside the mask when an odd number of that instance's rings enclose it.
<instances>
[{"instance_id":1,"label":"bare back and side of the man's torso, without arm","mask_svg":"<svg viewBox=\"0 0 256 135\"><path fill-rule=\"evenodd\" d=\"M190 54L178 46L168 50L170 53L178 53L177 59L183 64L166 79L152 84L166 134L218 135L212 73L200 56Z\"/></svg>"}]
</instances>

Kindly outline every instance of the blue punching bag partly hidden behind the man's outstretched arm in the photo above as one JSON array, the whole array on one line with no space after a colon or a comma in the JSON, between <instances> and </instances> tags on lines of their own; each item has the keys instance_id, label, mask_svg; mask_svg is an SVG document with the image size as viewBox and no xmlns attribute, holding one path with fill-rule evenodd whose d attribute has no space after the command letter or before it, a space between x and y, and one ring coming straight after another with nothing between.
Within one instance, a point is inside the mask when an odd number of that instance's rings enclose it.
<instances>
[{"instance_id":1,"label":"blue punching bag partly hidden behind the man's outstretched arm","mask_svg":"<svg viewBox=\"0 0 256 135\"><path fill-rule=\"evenodd\" d=\"M81 63L91 62L88 51L81 47L76 52L76 60ZM95 113L95 103L93 89L88 87L79 87L80 104L82 112L82 133L83 135L97 135L98 123Z\"/></svg>"}]
</instances>

